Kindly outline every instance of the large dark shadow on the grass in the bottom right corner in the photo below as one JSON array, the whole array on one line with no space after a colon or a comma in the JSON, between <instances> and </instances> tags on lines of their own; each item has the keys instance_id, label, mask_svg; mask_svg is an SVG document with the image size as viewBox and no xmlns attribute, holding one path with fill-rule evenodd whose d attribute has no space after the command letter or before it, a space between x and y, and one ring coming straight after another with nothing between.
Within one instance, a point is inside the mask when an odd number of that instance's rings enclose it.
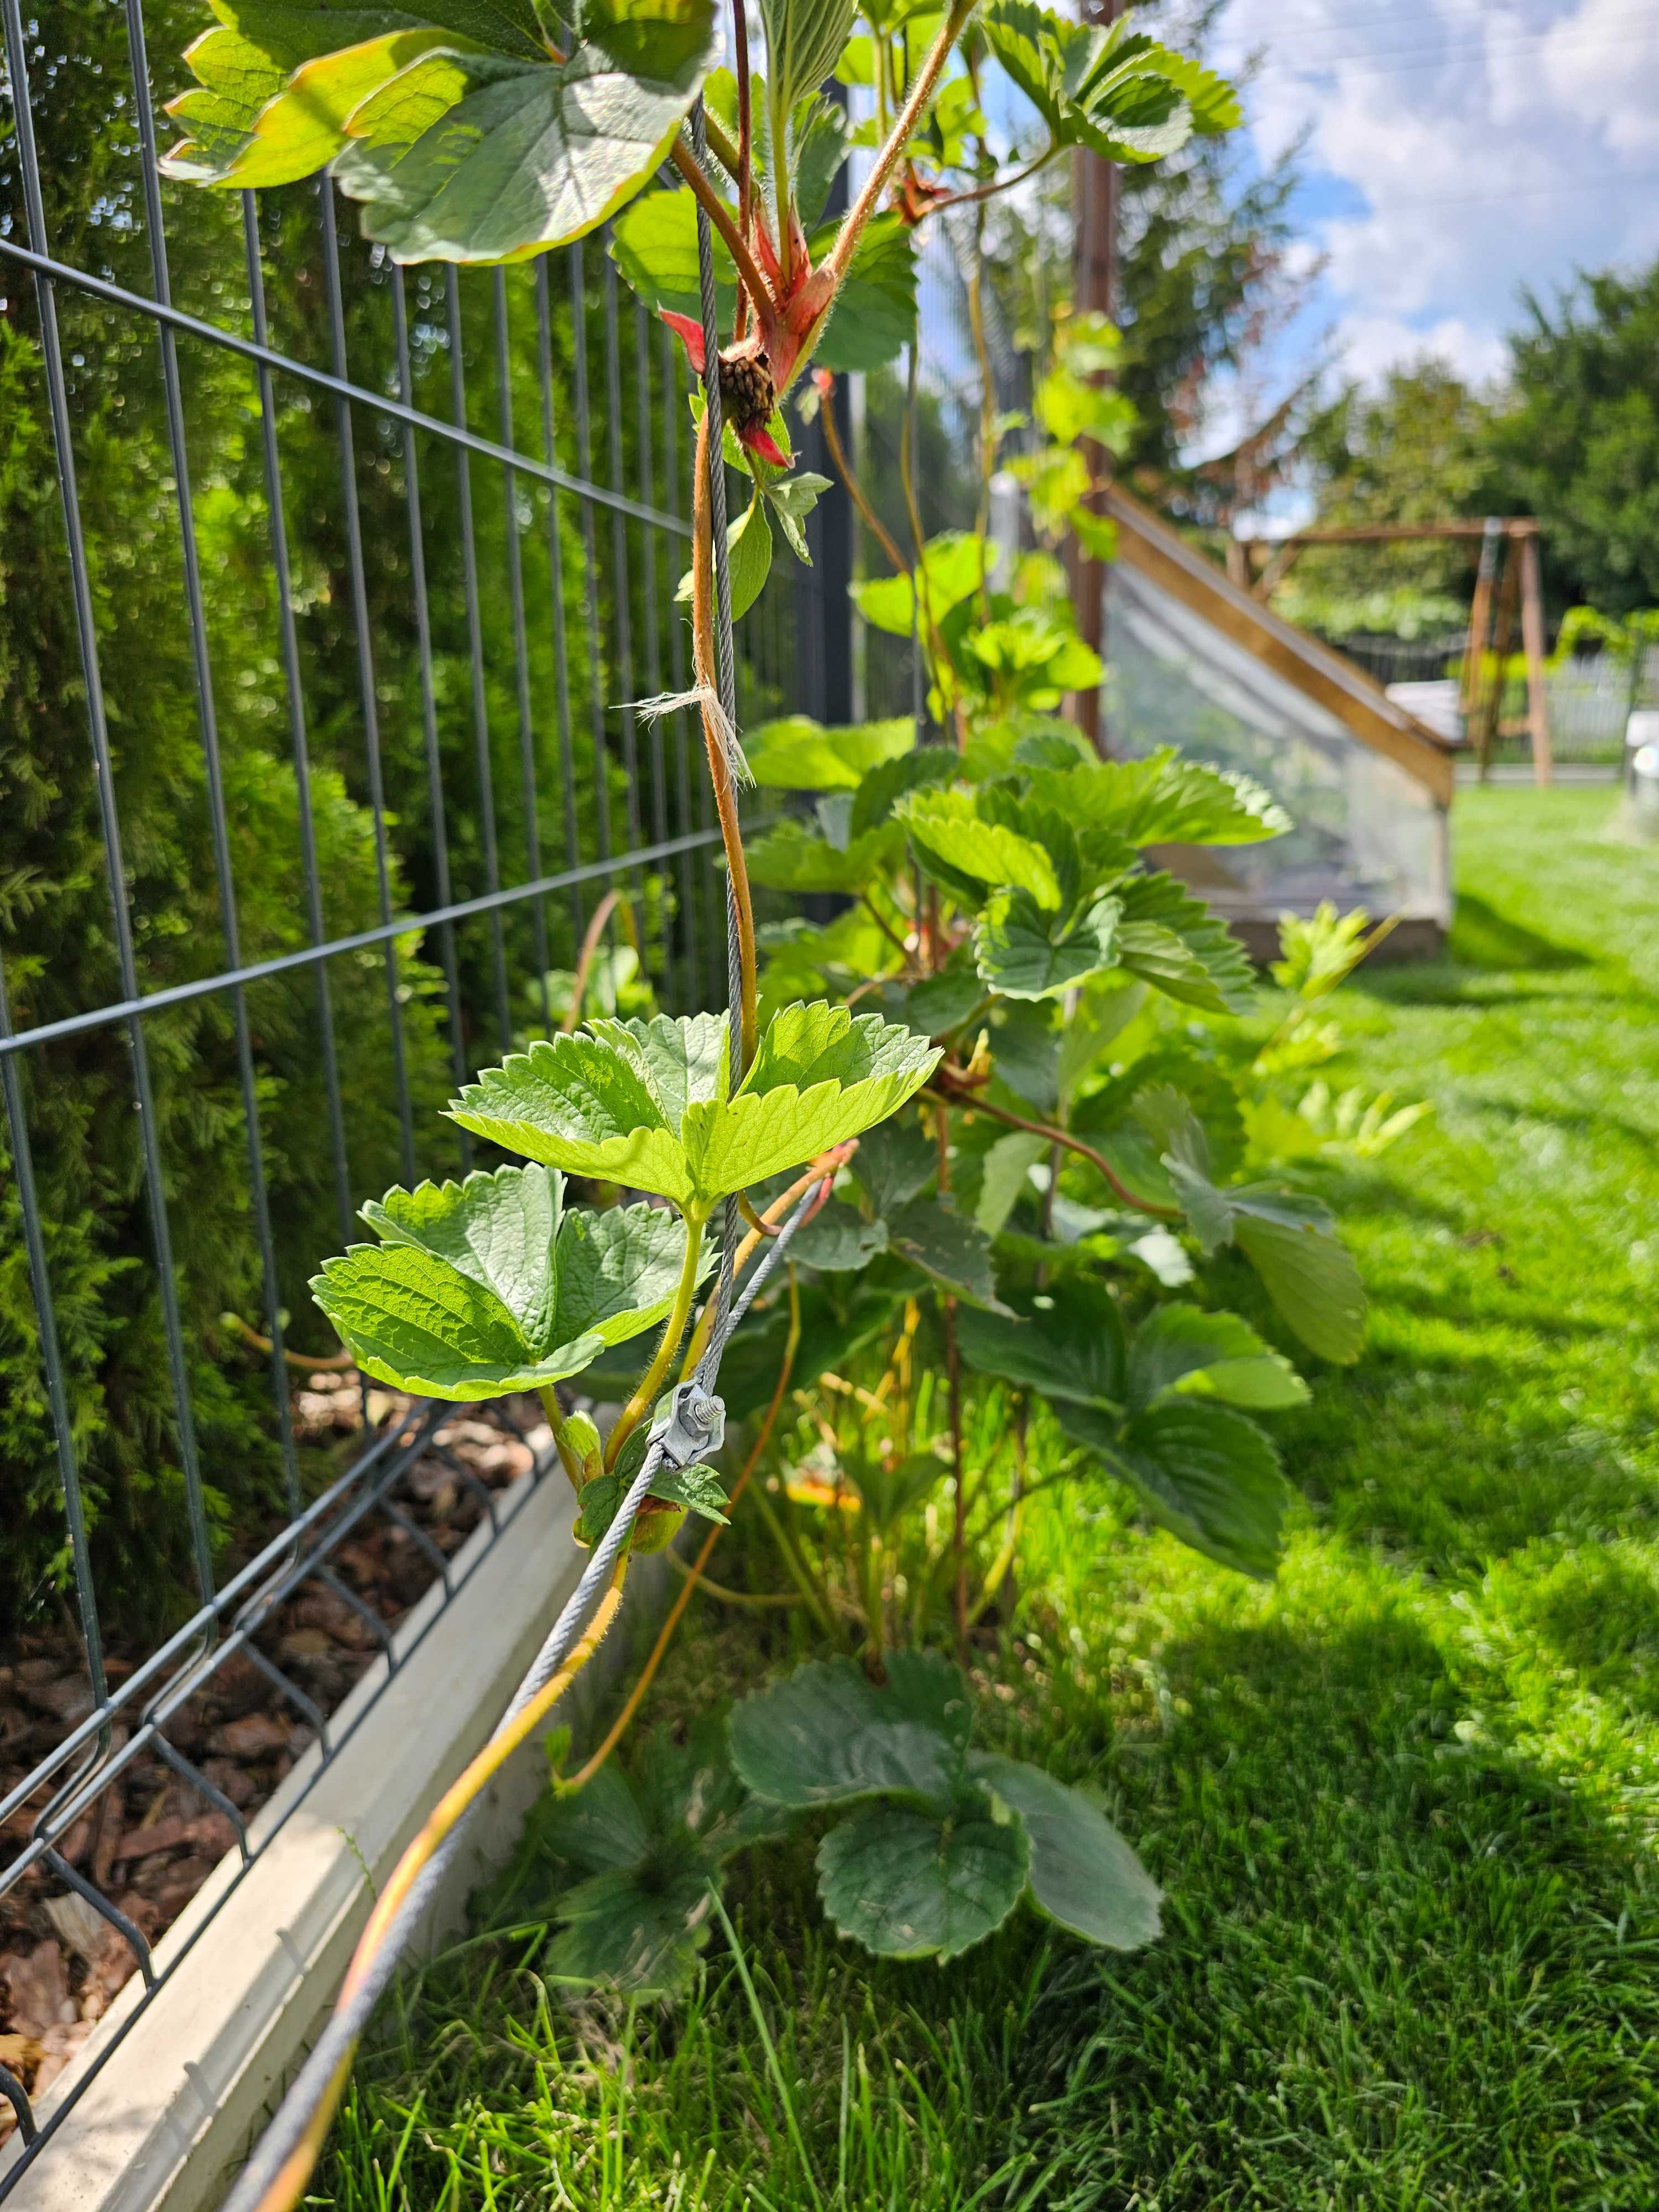
<instances>
[{"instance_id":1,"label":"large dark shadow on the grass in the bottom right corner","mask_svg":"<svg viewBox=\"0 0 1659 2212\"><path fill-rule=\"evenodd\" d=\"M1046 1982L1015 2081L1068 2177L1046 2212L1652 2201L1630 1845L1460 1741L1436 1644L1389 1597L1358 1610L1161 1655L1190 1717L1117 1770L1166 1938Z\"/></svg>"}]
</instances>

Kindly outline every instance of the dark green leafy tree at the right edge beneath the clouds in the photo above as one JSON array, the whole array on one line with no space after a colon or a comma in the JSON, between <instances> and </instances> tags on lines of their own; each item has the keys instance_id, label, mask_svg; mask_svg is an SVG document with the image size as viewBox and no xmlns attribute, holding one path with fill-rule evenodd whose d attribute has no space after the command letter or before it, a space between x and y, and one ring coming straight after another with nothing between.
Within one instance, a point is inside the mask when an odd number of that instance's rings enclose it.
<instances>
[{"instance_id":1,"label":"dark green leafy tree at the right edge beneath the clouds","mask_svg":"<svg viewBox=\"0 0 1659 2212\"><path fill-rule=\"evenodd\" d=\"M1659 261L1584 274L1553 310L1526 294L1515 403L1493 429L1544 524L1557 593L1608 615L1659 602Z\"/></svg>"}]
</instances>

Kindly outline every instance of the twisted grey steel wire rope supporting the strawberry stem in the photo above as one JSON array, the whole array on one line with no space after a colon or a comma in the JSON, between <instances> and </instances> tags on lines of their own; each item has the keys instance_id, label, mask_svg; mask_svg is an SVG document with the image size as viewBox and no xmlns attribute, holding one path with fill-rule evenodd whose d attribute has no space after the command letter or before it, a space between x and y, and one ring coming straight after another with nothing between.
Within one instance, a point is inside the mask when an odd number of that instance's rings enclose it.
<instances>
[{"instance_id":1,"label":"twisted grey steel wire rope supporting the strawberry stem","mask_svg":"<svg viewBox=\"0 0 1659 2212\"><path fill-rule=\"evenodd\" d=\"M692 111L692 142L699 159L706 157L706 133L703 133L703 106L701 100ZM732 650L732 584L726 544L726 462L721 451L723 416L721 416L721 389L719 389L719 314L714 296L714 254L712 237L708 226L708 215L701 204L697 208L697 259L701 279L701 305L703 305L703 392L708 407L708 476L710 476L710 513L712 513L712 555L714 555L714 679L719 690L721 710L726 712L728 726L737 728L737 668ZM726 885L726 962L728 962L728 993L730 993L730 1082L737 1088L743 1073L743 1033L741 1033L741 949L737 931L737 902L732 896L732 883L728 876ZM799 1203L794 1206L787 1221L781 1225L776 1237L768 1239L763 1250L757 1254L750 1267L748 1281L741 1296L734 1296L734 1261L739 1245L739 1208L737 1197L726 1199L723 1212L723 1237L721 1237L721 1265L719 1283L714 1290L714 1325L710 1329L708 1347L697 1365L695 1387L708 1396L714 1394L719 1380L721 1356L739 1325L743 1314L754 1303L757 1294L765 1285L768 1276L776 1267L779 1259L790 1245L790 1239L816 1208L821 1199L821 1183L814 1181ZM566 1666L571 1655L577 1650L582 1630L588 1621L588 1613L595 1599L602 1599L613 1586L617 1564L622 1559L624 1546L633 1535L639 1509L650 1493L653 1482L668 1460L675 1467L692 1464L690 1458L670 1458L668 1433L661 1425L653 1431L646 1447L646 1455L635 1473L628 1491L617 1506L617 1515L606 1528L604 1537L593 1551L593 1557L584 1566L575 1590L560 1608L560 1617L553 1624L546 1641L535 1655L529 1672L520 1681L513 1699L491 1732L489 1743L500 1743L513 1730L513 1723L526 1712L526 1708L555 1681L560 1668ZM489 1745L487 1745L489 1752ZM484 1754L480 1754L482 1759ZM361 1971L354 1960L354 1980L347 1980L347 1991L330 2015L323 2033L312 2046L310 2057L294 2077L288 2095L283 2097L276 2115L265 2128L252 2159L239 2174L234 2188L223 2201L223 2212L276 2212L276 2208L290 2205L299 2190L305 2185L310 2172L310 2159L316 2154L321 2143L319 2121L330 2112L338 2088L343 2086L345 2070L352 2064L352 2055L363 2031L369 2024L374 2006L398 1971L409 1942L420 1929L425 1916L442 1889L460 1847L471 1829L478 1814L482 1796L480 1792L471 1798L465 1812L456 1818L449 1834L438 1843L427 1865L409 1885L403 1905L396 1909L392 1920L380 1933L378 1944L372 1949L367 1960L363 1960Z\"/></svg>"}]
</instances>

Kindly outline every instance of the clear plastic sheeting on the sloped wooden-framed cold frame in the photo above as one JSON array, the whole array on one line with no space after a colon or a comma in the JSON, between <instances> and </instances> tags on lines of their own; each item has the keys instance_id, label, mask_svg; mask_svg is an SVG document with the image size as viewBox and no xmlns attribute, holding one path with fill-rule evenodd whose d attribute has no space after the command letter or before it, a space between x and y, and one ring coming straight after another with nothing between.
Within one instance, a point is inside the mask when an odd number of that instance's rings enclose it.
<instances>
[{"instance_id":1,"label":"clear plastic sheeting on the sloped wooden-framed cold frame","mask_svg":"<svg viewBox=\"0 0 1659 2212\"><path fill-rule=\"evenodd\" d=\"M1106 571L1113 752L1179 745L1241 768L1296 827L1263 845L1181 854L1181 874L1234 920L1338 907L1447 927L1447 816L1433 794L1327 706L1119 560Z\"/></svg>"}]
</instances>

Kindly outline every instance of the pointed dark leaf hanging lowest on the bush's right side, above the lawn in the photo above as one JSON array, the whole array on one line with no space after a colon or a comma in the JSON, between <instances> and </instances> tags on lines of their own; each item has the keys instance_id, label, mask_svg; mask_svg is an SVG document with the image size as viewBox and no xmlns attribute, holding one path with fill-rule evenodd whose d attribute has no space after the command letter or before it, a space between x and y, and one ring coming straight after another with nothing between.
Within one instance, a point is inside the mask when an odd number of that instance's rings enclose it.
<instances>
[{"instance_id":1,"label":"pointed dark leaf hanging lowest on the bush's right side, above the lawn","mask_svg":"<svg viewBox=\"0 0 1659 2212\"><path fill-rule=\"evenodd\" d=\"M1274 1573L1290 1491L1254 1420L1181 1396L1137 1413L1121 1433L1095 1407L1062 1402L1055 1411L1060 1427L1097 1451L1183 1544L1241 1575Z\"/></svg>"}]
</instances>

